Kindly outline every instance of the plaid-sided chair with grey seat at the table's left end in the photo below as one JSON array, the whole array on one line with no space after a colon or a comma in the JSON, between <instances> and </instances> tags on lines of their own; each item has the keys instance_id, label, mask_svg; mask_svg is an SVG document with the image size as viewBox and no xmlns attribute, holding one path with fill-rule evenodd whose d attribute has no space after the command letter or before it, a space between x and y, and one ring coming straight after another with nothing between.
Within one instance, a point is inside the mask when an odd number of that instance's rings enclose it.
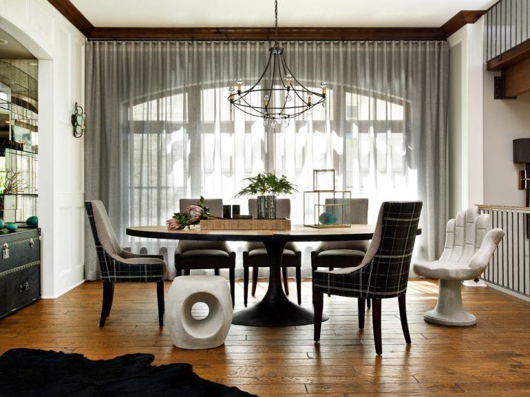
<instances>
[{"instance_id":1,"label":"plaid-sided chair with grey seat at the table's left end","mask_svg":"<svg viewBox=\"0 0 530 397\"><path fill-rule=\"evenodd\" d=\"M100 200L85 201L85 208L92 228L103 281L100 326L105 326L105 320L110 314L114 283L156 283L158 324L163 326L165 274L163 256L132 254L124 251L119 247L103 203Z\"/></svg>"}]
</instances>

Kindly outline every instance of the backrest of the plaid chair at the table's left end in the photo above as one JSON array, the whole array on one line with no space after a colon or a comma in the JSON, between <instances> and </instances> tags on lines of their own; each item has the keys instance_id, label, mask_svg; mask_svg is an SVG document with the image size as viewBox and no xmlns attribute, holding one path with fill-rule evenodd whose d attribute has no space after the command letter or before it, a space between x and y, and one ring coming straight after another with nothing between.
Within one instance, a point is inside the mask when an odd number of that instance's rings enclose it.
<instances>
[{"instance_id":1,"label":"backrest of the plaid chair at the table's left end","mask_svg":"<svg viewBox=\"0 0 530 397\"><path fill-rule=\"evenodd\" d=\"M85 201L86 213L92 235L94 237L96 251L103 249L110 255L119 255L122 247L119 246L118 239L114 235L112 225L110 224L109 215L105 206L100 200ZM99 252L98 252L99 258Z\"/></svg>"}]
</instances>

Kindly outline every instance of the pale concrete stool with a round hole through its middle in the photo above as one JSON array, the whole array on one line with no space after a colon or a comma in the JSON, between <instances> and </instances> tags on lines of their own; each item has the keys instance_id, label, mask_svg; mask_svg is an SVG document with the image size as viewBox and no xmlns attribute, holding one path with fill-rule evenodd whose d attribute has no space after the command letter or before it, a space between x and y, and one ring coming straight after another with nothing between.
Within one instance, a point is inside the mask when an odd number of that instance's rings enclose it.
<instances>
[{"instance_id":1,"label":"pale concrete stool with a round hole through its middle","mask_svg":"<svg viewBox=\"0 0 530 397\"><path fill-rule=\"evenodd\" d=\"M206 318L192 316L192 307L204 302ZM223 277L183 275L175 278L167 295L167 326L173 344L182 349L210 349L225 343L232 323L232 297Z\"/></svg>"}]
</instances>

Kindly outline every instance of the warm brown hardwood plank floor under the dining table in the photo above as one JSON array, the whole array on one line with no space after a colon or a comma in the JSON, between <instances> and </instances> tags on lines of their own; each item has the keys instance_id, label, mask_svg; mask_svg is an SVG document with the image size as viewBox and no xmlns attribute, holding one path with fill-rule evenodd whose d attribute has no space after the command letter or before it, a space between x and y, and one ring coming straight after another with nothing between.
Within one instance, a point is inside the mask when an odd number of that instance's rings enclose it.
<instances>
[{"instance_id":1,"label":"warm brown hardwood plank floor under the dining table","mask_svg":"<svg viewBox=\"0 0 530 397\"><path fill-rule=\"evenodd\" d=\"M165 290L170 283L165 283ZM257 297L266 283L259 283ZM311 283L302 283L302 304L311 305ZM242 283L236 283L236 310ZM296 300L291 279L290 299ZM357 302L324 295L320 343L313 326L252 328L232 326L224 346L180 350L167 327L158 327L156 285L119 284L105 328L98 327L101 283L84 283L57 300L42 300L0 320L0 353L42 348L105 359L150 352L155 364L189 362L201 377L260 396L362 393L530 393L530 303L490 288L463 288L464 306L478 318L469 328L423 321L437 297L437 285L413 280L407 294L412 345L406 345L397 300L382 302L383 355L375 355L371 311L358 330ZM170 308L167 308L170 309ZM199 309L198 312L201 312Z\"/></svg>"}]
</instances>

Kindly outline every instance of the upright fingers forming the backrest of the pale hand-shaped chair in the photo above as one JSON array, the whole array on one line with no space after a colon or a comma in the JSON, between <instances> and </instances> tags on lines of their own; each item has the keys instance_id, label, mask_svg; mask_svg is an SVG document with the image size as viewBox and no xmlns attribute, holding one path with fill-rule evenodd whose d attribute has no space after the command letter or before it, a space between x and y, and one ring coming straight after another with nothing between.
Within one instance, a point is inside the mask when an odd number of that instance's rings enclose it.
<instances>
[{"instance_id":1,"label":"upright fingers forming the backrest of the pale hand-shaped chair","mask_svg":"<svg viewBox=\"0 0 530 397\"><path fill-rule=\"evenodd\" d=\"M468 262L481 248L484 236L490 229L490 215L479 214L477 206L460 211L457 218L447 222L445 247L440 261Z\"/></svg>"}]
</instances>

